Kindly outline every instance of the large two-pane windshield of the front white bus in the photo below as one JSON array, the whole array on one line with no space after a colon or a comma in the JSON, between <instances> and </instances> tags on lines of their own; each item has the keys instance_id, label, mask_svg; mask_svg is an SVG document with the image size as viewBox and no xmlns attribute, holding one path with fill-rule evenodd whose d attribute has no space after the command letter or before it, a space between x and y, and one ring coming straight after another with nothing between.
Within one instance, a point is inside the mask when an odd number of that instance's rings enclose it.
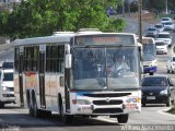
<instances>
[{"instance_id":1,"label":"large two-pane windshield of the front white bus","mask_svg":"<svg viewBox=\"0 0 175 131\"><path fill-rule=\"evenodd\" d=\"M73 53L72 90L139 87L136 47L75 47Z\"/></svg>"}]
</instances>

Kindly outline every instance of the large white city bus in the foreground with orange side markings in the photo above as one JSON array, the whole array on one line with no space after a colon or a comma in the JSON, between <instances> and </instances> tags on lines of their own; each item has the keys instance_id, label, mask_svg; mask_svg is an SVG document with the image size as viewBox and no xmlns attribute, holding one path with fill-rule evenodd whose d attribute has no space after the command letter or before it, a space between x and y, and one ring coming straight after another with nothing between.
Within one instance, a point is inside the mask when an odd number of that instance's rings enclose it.
<instances>
[{"instance_id":1,"label":"large white city bus in the foreground with orange side markings","mask_svg":"<svg viewBox=\"0 0 175 131\"><path fill-rule=\"evenodd\" d=\"M129 69L109 70L122 56ZM126 123L141 111L140 48L135 34L74 33L14 41L16 99L38 117L109 116Z\"/></svg>"}]
</instances>

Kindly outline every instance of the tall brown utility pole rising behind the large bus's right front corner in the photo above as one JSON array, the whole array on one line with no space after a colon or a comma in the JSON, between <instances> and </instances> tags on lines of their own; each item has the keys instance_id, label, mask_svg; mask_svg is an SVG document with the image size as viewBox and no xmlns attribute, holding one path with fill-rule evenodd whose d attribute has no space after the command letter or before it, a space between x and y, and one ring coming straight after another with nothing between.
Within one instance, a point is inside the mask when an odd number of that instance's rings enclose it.
<instances>
[{"instance_id":1,"label":"tall brown utility pole rising behind the large bus's right front corner","mask_svg":"<svg viewBox=\"0 0 175 131\"><path fill-rule=\"evenodd\" d=\"M142 0L138 0L138 20L139 20L139 43L142 44Z\"/></svg>"}]
</instances>

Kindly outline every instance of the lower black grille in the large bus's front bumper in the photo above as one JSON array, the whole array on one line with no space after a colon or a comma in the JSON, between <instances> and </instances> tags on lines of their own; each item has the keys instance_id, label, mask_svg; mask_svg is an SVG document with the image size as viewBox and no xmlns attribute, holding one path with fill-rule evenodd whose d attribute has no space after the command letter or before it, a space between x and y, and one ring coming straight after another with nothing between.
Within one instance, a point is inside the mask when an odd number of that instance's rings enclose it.
<instances>
[{"instance_id":1,"label":"lower black grille in the large bus's front bumper","mask_svg":"<svg viewBox=\"0 0 175 131\"><path fill-rule=\"evenodd\" d=\"M93 114L117 114L117 112L122 112L122 109L120 108L98 108L94 109L92 111Z\"/></svg>"}]
</instances>

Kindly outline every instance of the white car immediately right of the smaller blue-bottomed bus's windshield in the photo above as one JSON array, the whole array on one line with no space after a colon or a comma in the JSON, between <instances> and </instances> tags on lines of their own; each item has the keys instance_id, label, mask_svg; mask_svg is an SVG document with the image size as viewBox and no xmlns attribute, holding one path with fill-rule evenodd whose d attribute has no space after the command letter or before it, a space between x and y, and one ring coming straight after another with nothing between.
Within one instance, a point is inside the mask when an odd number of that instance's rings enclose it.
<instances>
[{"instance_id":1,"label":"white car immediately right of the smaller blue-bottomed bus's windshield","mask_svg":"<svg viewBox=\"0 0 175 131\"><path fill-rule=\"evenodd\" d=\"M163 40L155 40L156 53L167 55L167 45Z\"/></svg>"}]
</instances>

